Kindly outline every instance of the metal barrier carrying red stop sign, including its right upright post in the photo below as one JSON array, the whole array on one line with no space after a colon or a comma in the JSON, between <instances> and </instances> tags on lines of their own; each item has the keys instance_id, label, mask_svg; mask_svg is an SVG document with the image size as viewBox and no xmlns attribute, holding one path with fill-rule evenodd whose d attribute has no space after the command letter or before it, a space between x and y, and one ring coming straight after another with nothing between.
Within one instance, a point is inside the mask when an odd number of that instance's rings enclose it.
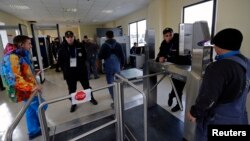
<instances>
[{"instance_id":1,"label":"metal barrier carrying red stop sign, including its right upright post","mask_svg":"<svg viewBox=\"0 0 250 141\"><path fill-rule=\"evenodd\" d=\"M117 141L122 141L123 140L123 131L121 130L121 128L123 127L122 125L122 119L121 119L121 98L120 98L120 93L119 93L119 83L113 83L113 84L110 84L110 85L107 85L105 87L101 87L101 88L98 88L98 89L94 89L92 90L92 92L95 92L95 91L100 91L100 90L103 90L103 89L106 89L106 88L109 88L109 87L113 87L113 90L115 91L115 94L114 94L114 104L115 104L115 119L114 120L111 120L101 126L98 126L82 135L79 135L73 139L71 139L70 141L75 141L75 140L79 140L83 137L86 137L88 136L89 134L92 134L98 130L101 130L111 124L114 124L114 123L117 123ZM57 99L53 99L53 100L49 100L49 101L45 101L43 103L41 103L39 105L39 120L40 120L40 124L41 124L41 129L42 129L42 136L43 136L43 140L44 141L49 141L49 133L48 133L48 130L47 129L47 121L46 121L46 117L45 117L45 111L43 110L44 106L46 104L52 104L52 103L56 103L56 102L59 102L59 101L62 101L62 100L66 100L66 99L69 99L71 98L70 95L68 96L65 96L65 97L62 97L62 98L57 98Z\"/></svg>"}]
</instances>

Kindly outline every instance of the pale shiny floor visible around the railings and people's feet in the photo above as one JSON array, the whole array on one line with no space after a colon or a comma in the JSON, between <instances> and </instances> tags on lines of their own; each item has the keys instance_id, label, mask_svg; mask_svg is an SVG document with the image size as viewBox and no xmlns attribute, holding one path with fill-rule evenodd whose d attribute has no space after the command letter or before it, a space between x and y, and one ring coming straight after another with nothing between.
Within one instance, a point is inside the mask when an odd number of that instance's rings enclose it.
<instances>
[{"instance_id":1,"label":"pale shiny floor visible around the railings and people's feet","mask_svg":"<svg viewBox=\"0 0 250 141\"><path fill-rule=\"evenodd\" d=\"M160 77L160 76L159 76ZM43 96L46 100L62 97L68 95L67 85L63 80L62 73L56 73L54 69L47 70L45 72L46 81L43 83ZM105 75L101 75L99 79L90 80L90 84L93 89L99 88L106 85ZM142 87L142 85L139 85ZM78 90L81 89L80 83L78 83ZM164 109L170 111L171 107L168 107L168 93L171 90L168 78L165 78L158 86L158 98L157 103L161 105ZM4 132L7 127L13 122L18 111L22 107L22 103L12 103L9 102L5 92L0 92L0 139L3 140ZM126 88L124 92L125 101L131 96L136 95L137 92L131 88ZM70 113L70 101L64 100L55 104L49 105L46 111L46 117L48 121L48 126L54 126L62 124L64 122L83 117L92 113L110 109L111 98L108 94L108 90L102 90L94 93L95 98L98 100L98 105L94 106L91 103L84 103L78 106L76 112ZM183 96L183 99L185 95ZM184 100L183 105L185 105ZM173 106L175 106L176 101L174 100ZM173 114L183 121L184 110ZM13 134L13 140L16 141L27 141L27 130L25 118L23 118L20 124L17 126ZM36 141L42 140L41 137L34 139Z\"/></svg>"}]
</instances>

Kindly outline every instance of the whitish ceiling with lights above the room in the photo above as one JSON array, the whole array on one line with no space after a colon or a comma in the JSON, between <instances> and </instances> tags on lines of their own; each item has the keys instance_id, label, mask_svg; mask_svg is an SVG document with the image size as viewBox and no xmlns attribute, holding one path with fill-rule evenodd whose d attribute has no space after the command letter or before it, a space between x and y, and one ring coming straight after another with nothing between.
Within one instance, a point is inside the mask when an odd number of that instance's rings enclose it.
<instances>
[{"instance_id":1,"label":"whitish ceiling with lights above the room","mask_svg":"<svg viewBox=\"0 0 250 141\"><path fill-rule=\"evenodd\" d=\"M0 11L39 24L102 24L145 7L151 0L0 0Z\"/></svg>"}]
</instances>

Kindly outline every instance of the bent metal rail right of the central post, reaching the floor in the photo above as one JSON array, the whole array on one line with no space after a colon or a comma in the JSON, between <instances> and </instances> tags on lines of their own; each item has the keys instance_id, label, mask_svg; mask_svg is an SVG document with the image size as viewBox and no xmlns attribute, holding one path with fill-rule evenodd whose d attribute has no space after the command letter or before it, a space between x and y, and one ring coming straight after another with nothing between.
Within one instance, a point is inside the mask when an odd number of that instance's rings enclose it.
<instances>
[{"instance_id":1,"label":"bent metal rail right of the central post, reaching the floor","mask_svg":"<svg viewBox=\"0 0 250 141\"><path fill-rule=\"evenodd\" d=\"M133 87L135 90L137 90L138 92L140 92L142 94L143 97L143 103L144 103L144 141L148 140L148 110L147 110L147 97L145 95L145 93L143 92L143 90L140 90L140 88L138 88L135 84L133 84L132 82L130 82L128 79L122 77L119 74L115 74L116 77L118 77L119 79L121 79L122 81L128 83L131 87Z\"/></svg>"}]
</instances>

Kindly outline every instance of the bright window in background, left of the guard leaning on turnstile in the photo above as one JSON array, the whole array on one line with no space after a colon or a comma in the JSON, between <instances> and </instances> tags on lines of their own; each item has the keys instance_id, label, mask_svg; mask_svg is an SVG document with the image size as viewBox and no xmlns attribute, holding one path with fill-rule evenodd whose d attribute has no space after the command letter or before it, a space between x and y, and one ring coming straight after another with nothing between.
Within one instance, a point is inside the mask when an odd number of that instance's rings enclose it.
<instances>
[{"instance_id":1,"label":"bright window in background, left of the guard leaning on turnstile","mask_svg":"<svg viewBox=\"0 0 250 141\"><path fill-rule=\"evenodd\" d=\"M137 42L138 46L144 46L145 33L146 33L146 20L129 24L130 47L133 47L134 42Z\"/></svg>"}]
</instances>

